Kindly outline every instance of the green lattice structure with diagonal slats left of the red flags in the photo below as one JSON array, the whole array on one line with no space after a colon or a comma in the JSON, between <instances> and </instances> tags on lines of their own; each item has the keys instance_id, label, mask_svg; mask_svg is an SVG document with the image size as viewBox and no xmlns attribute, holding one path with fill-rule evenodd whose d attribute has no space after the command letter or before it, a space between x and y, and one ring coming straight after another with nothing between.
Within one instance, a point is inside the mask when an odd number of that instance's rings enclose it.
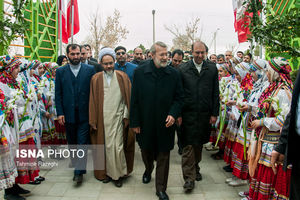
<instances>
[{"instance_id":1,"label":"green lattice structure with diagonal slats left of the red flags","mask_svg":"<svg viewBox=\"0 0 300 200\"><path fill-rule=\"evenodd\" d=\"M24 44L12 44L11 47L24 48L24 55L29 60L42 62L56 61L58 52L58 17L56 0L28 0L24 9L24 17L28 23L23 41ZM0 12L5 4L11 5L9 0L0 0ZM13 17L5 13L5 17ZM1 16L1 15L0 15ZM1 34L1 33L0 33ZM20 36L21 37L21 36Z\"/></svg>"}]
</instances>

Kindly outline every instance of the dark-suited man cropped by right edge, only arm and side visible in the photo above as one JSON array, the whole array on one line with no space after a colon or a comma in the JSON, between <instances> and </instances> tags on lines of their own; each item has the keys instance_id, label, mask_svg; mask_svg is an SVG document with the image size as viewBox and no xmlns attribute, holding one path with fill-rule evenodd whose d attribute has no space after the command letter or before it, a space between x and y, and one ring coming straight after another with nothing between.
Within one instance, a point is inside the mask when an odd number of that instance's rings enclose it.
<instances>
[{"instance_id":1,"label":"dark-suited man cropped by right edge, only arm and side visible","mask_svg":"<svg viewBox=\"0 0 300 200\"><path fill-rule=\"evenodd\" d=\"M296 79L290 113L282 127L278 146L273 150L271 164L277 173L277 163L284 161L284 170L292 164L290 199L300 200L300 76Z\"/></svg>"}]
</instances>

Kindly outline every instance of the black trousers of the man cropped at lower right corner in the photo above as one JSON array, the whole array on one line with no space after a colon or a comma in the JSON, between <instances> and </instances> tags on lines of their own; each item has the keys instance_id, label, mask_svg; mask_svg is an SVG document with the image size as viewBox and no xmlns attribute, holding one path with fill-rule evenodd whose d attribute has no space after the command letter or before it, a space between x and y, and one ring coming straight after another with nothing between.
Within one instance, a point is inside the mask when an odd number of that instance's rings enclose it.
<instances>
[{"instance_id":1,"label":"black trousers of the man cropped at lower right corner","mask_svg":"<svg viewBox=\"0 0 300 200\"><path fill-rule=\"evenodd\" d=\"M300 200L300 161L293 164L291 175L290 200Z\"/></svg>"}]
</instances>

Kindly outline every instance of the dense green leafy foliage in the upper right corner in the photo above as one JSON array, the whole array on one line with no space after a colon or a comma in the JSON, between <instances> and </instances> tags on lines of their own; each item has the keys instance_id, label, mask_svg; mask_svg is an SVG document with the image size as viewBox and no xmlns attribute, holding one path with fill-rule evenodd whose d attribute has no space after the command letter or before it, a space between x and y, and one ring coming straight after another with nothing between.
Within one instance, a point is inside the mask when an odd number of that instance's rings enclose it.
<instances>
[{"instance_id":1,"label":"dense green leafy foliage in the upper right corner","mask_svg":"<svg viewBox=\"0 0 300 200\"><path fill-rule=\"evenodd\" d=\"M249 24L252 33L250 41L266 46L268 51L286 52L291 57L300 57L299 46L292 44L292 39L300 37L300 9L290 8L283 15L274 13L270 4L262 4L260 0L247 0L247 11L253 13ZM258 12L264 13L264 22Z\"/></svg>"}]
</instances>

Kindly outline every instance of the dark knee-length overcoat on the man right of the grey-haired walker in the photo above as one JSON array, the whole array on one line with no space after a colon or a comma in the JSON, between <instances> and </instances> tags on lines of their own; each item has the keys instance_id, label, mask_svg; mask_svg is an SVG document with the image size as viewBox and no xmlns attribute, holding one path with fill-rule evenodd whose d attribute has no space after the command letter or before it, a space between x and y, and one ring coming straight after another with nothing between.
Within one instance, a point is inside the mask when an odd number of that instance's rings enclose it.
<instances>
[{"instance_id":1,"label":"dark knee-length overcoat on the man right of the grey-haired walker","mask_svg":"<svg viewBox=\"0 0 300 200\"><path fill-rule=\"evenodd\" d=\"M183 145L205 144L210 136L210 117L219 115L218 70L214 63L203 61L199 73L190 60L179 66L179 72L184 90Z\"/></svg>"}]
</instances>

